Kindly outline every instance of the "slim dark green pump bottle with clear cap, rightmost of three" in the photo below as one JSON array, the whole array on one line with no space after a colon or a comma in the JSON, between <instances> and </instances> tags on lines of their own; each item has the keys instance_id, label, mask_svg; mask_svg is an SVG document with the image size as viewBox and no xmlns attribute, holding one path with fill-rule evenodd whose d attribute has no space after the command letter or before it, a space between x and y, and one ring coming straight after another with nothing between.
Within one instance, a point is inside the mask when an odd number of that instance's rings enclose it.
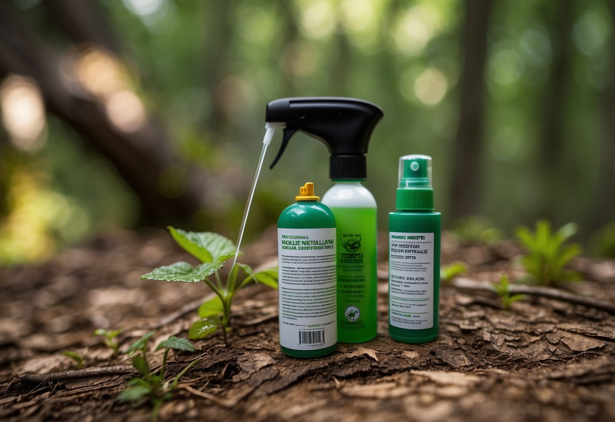
<instances>
[{"instance_id":1,"label":"slim dark green pump bottle with clear cap, rightmost of three","mask_svg":"<svg viewBox=\"0 0 615 422\"><path fill-rule=\"evenodd\" d=\"M399 159L397 211L389 213L389 334L405 343L438 336L440 213L431 157Z\"/></svg>"}]
</instances>

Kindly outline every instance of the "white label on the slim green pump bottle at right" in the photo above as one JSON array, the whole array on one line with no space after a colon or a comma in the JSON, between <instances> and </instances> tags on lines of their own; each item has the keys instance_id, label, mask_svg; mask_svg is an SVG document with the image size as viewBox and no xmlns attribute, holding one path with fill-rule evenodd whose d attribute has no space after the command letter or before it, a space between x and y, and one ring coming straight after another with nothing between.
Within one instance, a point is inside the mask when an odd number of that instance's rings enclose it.
<instances>
[{"instance_id":1,"label":"white label on the slim green pump bottle at right","mask_svg":"<svg viewBox=\"0 0 615 422\"><path fill-rule=\"evenodd\" d=\"M389 322L434 326L434 233L389 233Z\"/></svg>"}]
</instances>

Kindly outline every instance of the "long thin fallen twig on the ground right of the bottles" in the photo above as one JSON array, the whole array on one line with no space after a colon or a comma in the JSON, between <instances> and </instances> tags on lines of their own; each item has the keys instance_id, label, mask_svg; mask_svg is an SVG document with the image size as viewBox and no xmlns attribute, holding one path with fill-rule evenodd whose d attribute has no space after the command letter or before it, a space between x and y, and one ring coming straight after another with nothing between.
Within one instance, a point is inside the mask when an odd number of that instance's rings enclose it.
<instances>
[{"instance_id":1,"label":"long thin fallen twig on the ground right of the bottles","mask_svg":"<svg viewBox=\"0 0 615 422\"><path fill-rule=\"evenodd\" d=\"M458 289L467 289L467 290L487 290L489 292L493 292L493 288L491 284L483 281L475 281L466 278L456 278L450 282L450 285L457 287ZM606 311L609 314L615 314L615 305L613 303L608 303L602 300L582 297L573 295L572 293L562 292L561 290L552 289L550 287L538 287L538 286L530 286L524 284L514 284L510 285L510 293L517 294L520 293L522 295L531 295L544 297L549 299L555 299L567 303L572 303L574 305L583 305L588 308L600 309L601 311Z\"/></svg>"}]
</instances>

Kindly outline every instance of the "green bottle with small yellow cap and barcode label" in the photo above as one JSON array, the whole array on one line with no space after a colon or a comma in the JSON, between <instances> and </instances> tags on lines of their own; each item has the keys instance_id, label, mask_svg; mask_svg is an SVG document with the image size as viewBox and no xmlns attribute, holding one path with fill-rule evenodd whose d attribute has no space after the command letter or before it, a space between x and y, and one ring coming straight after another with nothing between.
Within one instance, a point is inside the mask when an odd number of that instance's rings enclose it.
<instances>
[{"instance_id":1,"label":"green bottle with small yellow cap and barcode label","mask_svg":"<svg viewBox=\"0 0 615 422\"><path fill-rule=\"evenodd\" d=\"M338 341L335 217L300 188L277 221L280 348L295 357L325 356Z\"/></svg>"}]
</instances>

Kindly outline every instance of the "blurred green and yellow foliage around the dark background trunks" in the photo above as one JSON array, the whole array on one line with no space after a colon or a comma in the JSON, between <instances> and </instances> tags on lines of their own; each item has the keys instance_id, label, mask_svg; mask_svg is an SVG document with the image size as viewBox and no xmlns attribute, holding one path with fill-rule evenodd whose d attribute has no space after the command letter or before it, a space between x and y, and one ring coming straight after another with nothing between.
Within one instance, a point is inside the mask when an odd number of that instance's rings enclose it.
<instances>
[{"instance_id":1,"label":"blurred green and yellow foliage around the dark background trunks","mask_svg":"<svg viewBox=\"0 0 615 422\"><path fill-rule=\"evenodd\" d=\"M603 189L597 171L605 136L601 98L615 74L609 64L614 35L608 1L573 6L567 38L572 42L566 51L571 72L561 121L561 156L569 170L555 176L544 170L538 151L555 46L562 41L552 28L559 4L494 2L485 77L485 154L483 162L467 164L484 170L480 211L488 220L467 222L458 230L462 238L498 239L501 232L495 227L509 230L545 214L556 224L593 225L597 210L592 201ZM36 1L15 4L30 17L41 8ZM383 108L365 182L381 209L381 228L386 227L386 211L394 209L396 163L403 154L434 157L436 207L446 211L453 206L448 194L461 92L461 0L101 4L124 51L122 60L139 81L135 90L146 110L169 130L185 159L213 175L213 200L202 218L212 220L216 231L236 236L261 147L264 106L279 97L343 95ZM50 29L51 22L41 26L52 32L49 39L58 52L69 48L66 37ZM16 153L6 133L0 133L0 263L46 258L89 234L138 225L135 196L72 129L48 115L43 136L41 148ZM279 138L267 162L278 145ZM306 180L320 192L330 186L327 158L325 146L300 134L274 170L263 169L248 241L275 223ZM181 190L181 171L170 168L160 180L169 196ZM443 217L445 225L453 223L446 221L446 213Z\"/></svg>"}]
</instances>

